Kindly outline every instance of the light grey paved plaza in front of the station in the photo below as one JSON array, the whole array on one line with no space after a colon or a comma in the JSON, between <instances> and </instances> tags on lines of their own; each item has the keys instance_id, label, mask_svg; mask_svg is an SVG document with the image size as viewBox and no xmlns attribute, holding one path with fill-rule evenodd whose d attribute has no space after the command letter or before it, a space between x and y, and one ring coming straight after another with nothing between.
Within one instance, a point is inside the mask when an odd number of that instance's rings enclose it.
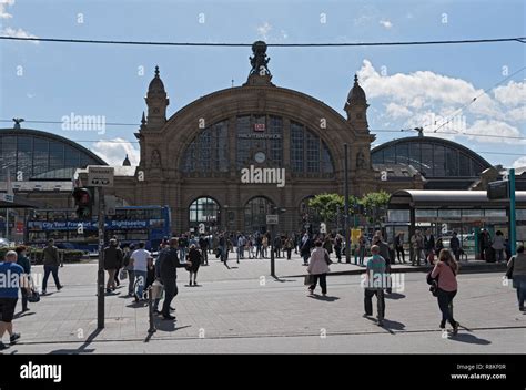
<instances>
[{"instance_id":1,"label":"light grey paved plaza in front of the station","mask_svg":"<svg viewBox=\"0 0 526 390\"><path fill-rule=\"evenodd\" d=\"M124 297L128 280L105 297L105 328L97 330L97 263L60 268L61 291L51 281L48 295L31 311L18 315L19 343L3 353L129 352L444 352L512 353L526 349L526 316L518 311L515 290L503 286L503 271L458 277L454 312L462 325L455 338L439 329L436 299L425 273L403 271L403 287L387 296L386 320L378 327L363 318L358 275L327 278L327 297L308 297L301 259L218 260L200 268L200 286L189 287L179 270L175 322L155 317L149 336L148 306ZM397 266L398 267L398 266ZM332 271L354 265L333 264ZM464 267L467 268L467 267ZM38 277L40 266L32 273ZM320 290L317 290L320 292ZM20 311L20 302L17 312Z\"/></svg>"}]
</instances>

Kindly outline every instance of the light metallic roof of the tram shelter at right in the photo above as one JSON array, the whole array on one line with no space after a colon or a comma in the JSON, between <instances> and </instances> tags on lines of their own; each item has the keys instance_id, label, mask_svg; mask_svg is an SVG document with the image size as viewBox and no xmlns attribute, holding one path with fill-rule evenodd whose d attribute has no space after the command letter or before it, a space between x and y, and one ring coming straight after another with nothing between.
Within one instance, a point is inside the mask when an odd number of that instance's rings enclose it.
<instances>
[{"instance_id":1,"label":"light metallic roof of the tram shelter at right","mask_svg":"<svg viewBox=\"0 0 526 390\"><path fill-rule=\"evenodd\" d=\"M516 191L516 206L526 207L526 191ZM489 201L485 191L401 189L391 195L391 206L441 208L505 208L509 201ZM393 207L396 208L396 207Z\"/></svg>"}]
</instances>

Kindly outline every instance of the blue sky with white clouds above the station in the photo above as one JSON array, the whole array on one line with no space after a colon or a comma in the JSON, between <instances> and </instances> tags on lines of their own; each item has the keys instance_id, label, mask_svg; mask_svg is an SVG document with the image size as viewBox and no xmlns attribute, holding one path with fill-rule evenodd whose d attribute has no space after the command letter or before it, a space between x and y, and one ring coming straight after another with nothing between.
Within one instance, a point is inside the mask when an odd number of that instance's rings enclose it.
<instances>
[{"instance_id":1,"label":"blue sky with white clouds above the station","mask_svg":"<svg viewBox=\"0 0 526 390\"><path fill-rule=\"evenodd\" d=\"M0 35L227 43L492 39L526 37L525 7L520 0L0 0ZM11 127L12 117L60 122L24 126L77 141L110 164L125 154L138 164L133 133L155 65L171 116L195 99L244 83L251 54L246 47L1 40L0 127ZM492 164L526 165L524 43L271 47L267 54L274 84L312 95L342 115L356 73L367 94L374 145L424 126L426 135L458 142ZM62 122L71 115L95 115L107 125L69 130Z\"/></svg>"}]
</instances>

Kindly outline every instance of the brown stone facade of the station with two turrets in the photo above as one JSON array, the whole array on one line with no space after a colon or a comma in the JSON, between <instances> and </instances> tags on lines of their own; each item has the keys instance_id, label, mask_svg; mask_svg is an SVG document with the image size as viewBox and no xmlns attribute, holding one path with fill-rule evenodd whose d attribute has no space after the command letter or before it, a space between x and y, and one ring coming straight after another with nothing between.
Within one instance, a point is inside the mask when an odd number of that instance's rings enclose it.
<instances>
[{"instance_id":1,"label":"brown stone facade of the station with two turrets","mask_svg":"<svg viewBox=\"0 0 526 390\"><path fill-rule=\"evenodd\" d=\"M114 193L131 205L169 205L172 229L190 227L189 207L199 197L211 197L219 204L221 228L246 230L244 208L254 197L264 196L280 208L280 230L294 232L301 225L301 204L305 198L325 193L344 193L344 144L348 144L350 192L362 196L368 192L422 188L422 178L407 177L381 181L371 164L371 143L375 136L367 125L367 102L355 78L345 102L345 119L323 102L297 91L275 86L270 73L251 73L243 86L230 88L205 95L166 120L169 99L159 69L145 98L148 120L143 120L135 136L140 143L141 161L134 177L115 177ZM286 184L244 184L235 165L236 130L240 115L276 115L283 119L283 168ZM220 121L227 123L230 166L209 174L183 172L183 157L192 141ZM301 123L314 132L327 146L334 172L330 175L297 175L291 170L290 122ZM265 167L265 163L260 164ZM259 165L259 166L260 166ZM226 206L226 207L225 207Z\"/></svg>"}]
</instances>

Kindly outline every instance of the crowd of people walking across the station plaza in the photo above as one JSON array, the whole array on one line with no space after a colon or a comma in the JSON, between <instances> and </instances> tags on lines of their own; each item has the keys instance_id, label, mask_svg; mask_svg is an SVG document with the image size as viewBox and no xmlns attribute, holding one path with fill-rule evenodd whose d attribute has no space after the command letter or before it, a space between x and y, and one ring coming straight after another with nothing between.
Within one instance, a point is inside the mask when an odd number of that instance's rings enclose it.
<instances>
[{"instance_id":1,"label":"crowd of people walking across the station plaza","mask_svg":"<svg viewBox=\"0 0 526 390\"><path fill-rule=\"evenodd\" d=\"M484 230L482 235L486 235ZM488 235L488 234L487 234ZM277 234L272 239L269 234L230 234L218 233L215 235L192 235L183 234L162 240L158 248L158 256L146 250L144 243L136 245L120 245L117 237L109 240L104 248L104 269L108 274L105 291L114 294L120 284L128 279L128 297L135 302L144 302L148 294L151 294L151 286L154 283L162 286L164 298L161 309L161 298L153 300L153 314L162 316L165 320L174 320L172 312L175 310L171 305L178 295L178 268L185 268L189 273L189 287L198 285L198 273L201 266L209 265L211 255L223 261L227 266L229 254L234 253L239 259L265 259L270 257L270 250L274 250L275 258L292 258L292 252L301 256L308 278L305 284L308 286L308 295L313 296L320 284L322 296L327 295L327 275L331 271L330 265L335 261L341 263L345 255L344 238L340 234L317 234L312 235L306 232L302 234L282 235ZM457 294L458 261L462 246L456 233L449 239L449 248L445 248L442 238L435 240L429 230L422 234L416 230L409 239L409 261L413 265L421 265L422 260L433 265L432 271L427 276L429 288L436 297L438 308L442 314L439 328L444 329L446 322L452 326L454 335L458 331L458 322L453 318L453 299ZM489 247L493 248L497 261L506 259L504 254L506 243L502 232L497 232L493 240L481 237L482 253L485 256ZM390 280L391 266L395 263L405 261L403 234L396 235L393 246L384 239L380 230L368 238L362 234L355 245L354 250L357 263L365 267L364 285L364 316L373 314L372 298L377 300L377 324L383 325L385 318L385 294L391 294L391 286L385 284ZM509 252L507 252L509 254ZM524 311L524 300L526 298L526 254L524 246L519 246L516 256L508 259L507 278L513 279L513 287L517 290L519 310ZM57 290L63 288L59 279L59 267L61 260L59 250L54 242L50 239L43 249L43 280L42 295L47 295L48 279L52 275ZM9 333L10 342L14 343L20 333L13 331L12 319L21 291L22 312L29 311L29 298L37 294L31 284L31 261L27 256L27 248L19 246L16 250L9 250L0 261L0 280L7 280L8 275L18 276L18 285L0 285L0 349L7 348L1 338L4 332ZM377 285L376 280L383 280ZM151 297L150 297L151 298ZM153 299L153 298L152 298Z\"/></svg>"}]
</instances>

